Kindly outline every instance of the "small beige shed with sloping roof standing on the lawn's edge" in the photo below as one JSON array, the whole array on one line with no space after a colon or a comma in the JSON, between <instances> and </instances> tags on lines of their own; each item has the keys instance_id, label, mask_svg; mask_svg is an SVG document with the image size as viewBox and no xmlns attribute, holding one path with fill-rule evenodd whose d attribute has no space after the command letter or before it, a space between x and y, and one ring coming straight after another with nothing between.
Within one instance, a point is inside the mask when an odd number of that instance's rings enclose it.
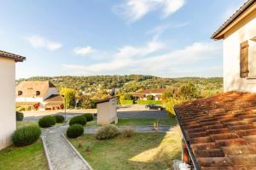
<instances>
[{"instance_id":1,"label":"small beige shed with sloping roof standing on the lawn's edge","mask_svg":"<svg viewBox=\"0 0 256 170\"><path fill-rule=\"evenodd\" d=\"M118 121L116 111L117 99L115 97L99 100L96 105L98 125L107 125Z\"/></svg>"}]
</instances>

